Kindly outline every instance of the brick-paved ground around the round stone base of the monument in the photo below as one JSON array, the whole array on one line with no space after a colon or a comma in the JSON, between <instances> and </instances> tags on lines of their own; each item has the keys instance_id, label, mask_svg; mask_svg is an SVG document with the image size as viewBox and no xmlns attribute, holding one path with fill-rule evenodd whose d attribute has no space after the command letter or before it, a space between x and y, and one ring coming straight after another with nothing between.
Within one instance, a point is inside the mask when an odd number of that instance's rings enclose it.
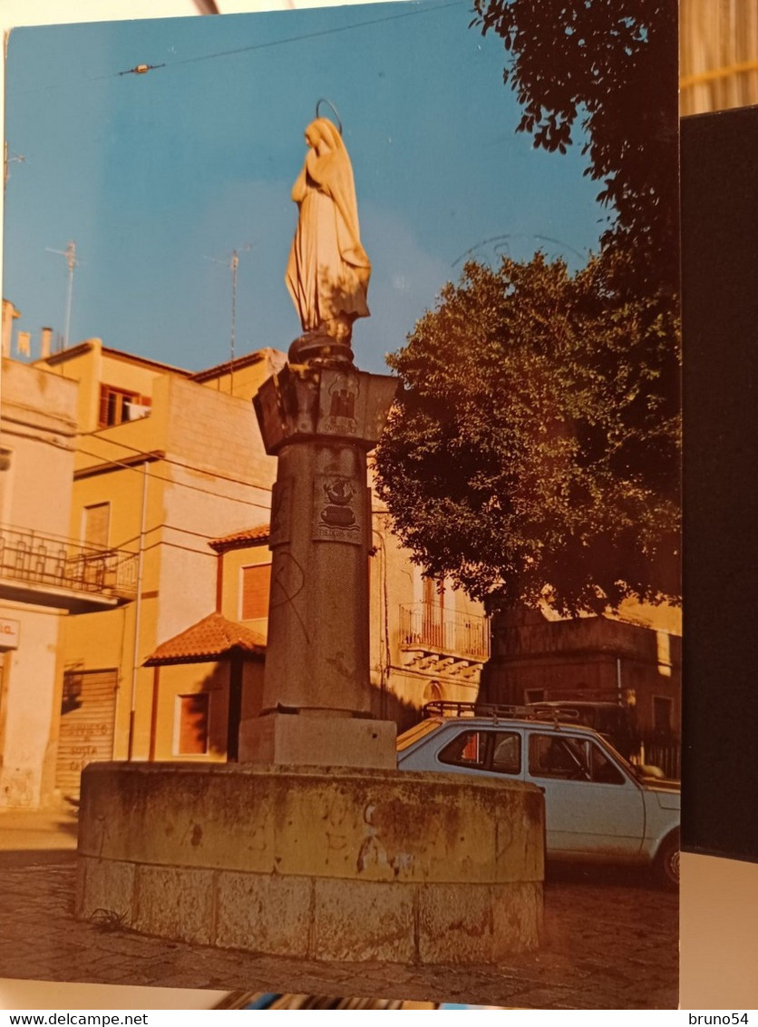
<instances>
[{"instance_id":1,"label":"brick-paved ground around the round stone base of the monument","mask_svg":"<svg viewBox=\"0 0 758 1027\"><path fill-rule=\"evenodd\" d=\"M0 815L0 977L531 1009L677 1006L677 900L643 875L552 872L545 944L494 972L302 962L76 921L75 819L65 814L50 814L46 828L39 814L10 814L15 826Z\"/></svg>"}]
</instances>

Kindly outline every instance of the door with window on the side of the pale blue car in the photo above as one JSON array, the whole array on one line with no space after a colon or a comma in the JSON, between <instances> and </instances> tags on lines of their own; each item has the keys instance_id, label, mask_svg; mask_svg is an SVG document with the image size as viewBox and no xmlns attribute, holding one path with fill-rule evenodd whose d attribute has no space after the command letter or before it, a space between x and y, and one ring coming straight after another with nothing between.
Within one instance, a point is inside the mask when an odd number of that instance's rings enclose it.
<instances>
[{"instance_id":1,"label":"door with window on the side of the pale blue car","mask_svg":"<svg viewBox=\"0 0 758 1027\"><path fill-rule=\"evenodd\" d=\"M633 860L642 847L642 790L599 739L534 729L525 779L545 791L548 855Z\"/></svg>"}]
</instances>

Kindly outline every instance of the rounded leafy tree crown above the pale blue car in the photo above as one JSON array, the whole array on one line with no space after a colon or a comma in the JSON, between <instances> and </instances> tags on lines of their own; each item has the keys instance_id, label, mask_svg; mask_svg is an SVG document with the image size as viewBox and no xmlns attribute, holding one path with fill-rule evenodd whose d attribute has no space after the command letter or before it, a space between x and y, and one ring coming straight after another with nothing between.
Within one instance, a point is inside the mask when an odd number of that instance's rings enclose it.
<instances>
[{"instance_id":1,"label":"rounded leafy tree crown above the pale blue car","mask_svg":"<svg viewBox=\"0 0 758 1027\"><path fill-rule=\"evenodd\" d=\"M674 314L536 254L467 265L408 345L377 489L426 572L490 607L677 593Z\"/></svg>"}]
</instances>

